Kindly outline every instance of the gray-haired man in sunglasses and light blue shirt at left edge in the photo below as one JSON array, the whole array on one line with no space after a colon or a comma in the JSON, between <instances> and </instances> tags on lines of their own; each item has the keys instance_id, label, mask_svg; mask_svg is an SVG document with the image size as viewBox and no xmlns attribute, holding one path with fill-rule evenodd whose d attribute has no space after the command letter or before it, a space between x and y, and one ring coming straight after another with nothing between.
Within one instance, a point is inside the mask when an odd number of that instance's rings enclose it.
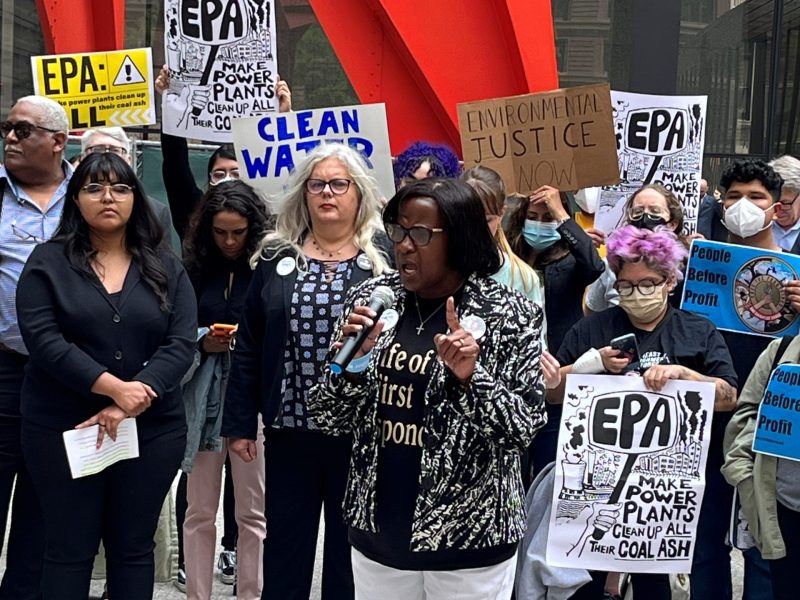
<instances>
[{"instance_id":1,"label":"gray-haired man in sunglasses and light blue shirt at left edge","mask_svg":"<svg viewBox=\"0 0 800 600\"><path fill-rule=\"evenodd\" d=\"M69 121L57 102L17 100L0 124L0 534L11 504L11 533L0 600L40 598L44 528L39 500L22 458L20 390L28 353L17 324L17 282L37 244L53 235L73 169L64 160Z\"/></svg>"}]
</instances>

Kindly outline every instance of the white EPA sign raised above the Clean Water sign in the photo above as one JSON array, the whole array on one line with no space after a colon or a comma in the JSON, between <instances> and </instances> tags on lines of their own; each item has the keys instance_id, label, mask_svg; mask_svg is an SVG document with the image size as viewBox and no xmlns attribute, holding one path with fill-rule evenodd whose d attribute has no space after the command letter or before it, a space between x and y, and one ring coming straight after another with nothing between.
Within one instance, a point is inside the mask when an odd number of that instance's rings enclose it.
<instances>
[{"instance_id":1,"label":"white EPA sign raised above the Clean Water sign","mask_svg":"<svg viewBox=\"0 0 800 600\"><path fill-rule=\"evenodd\" d=\"M237 117L278 110L274 0L166 0L163 129L230 142Z\"/></svg>"}]
</instances>

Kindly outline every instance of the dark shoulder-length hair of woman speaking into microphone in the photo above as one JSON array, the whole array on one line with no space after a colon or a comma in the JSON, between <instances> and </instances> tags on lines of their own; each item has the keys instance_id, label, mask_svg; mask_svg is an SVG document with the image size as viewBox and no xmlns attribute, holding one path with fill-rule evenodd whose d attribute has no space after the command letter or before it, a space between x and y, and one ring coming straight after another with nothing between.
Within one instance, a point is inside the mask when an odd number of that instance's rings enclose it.
<instances>
[{"instance_id":1,"label":"dark shoulder-length hair of woman speaking into microphone","mask_svg":"<svg viewBox=\"0 0 800 600\"><path fill-rule=\"evenodd\" d=\"M415 181L389 200L383 209L383 222L397 223L400 206L415 198L430 198L439 207L448 234L447 263L451 269L464 277L497 273L502 264L500 253L475 190L460 179L429 177Z\"/></svg>"}]
</instances>

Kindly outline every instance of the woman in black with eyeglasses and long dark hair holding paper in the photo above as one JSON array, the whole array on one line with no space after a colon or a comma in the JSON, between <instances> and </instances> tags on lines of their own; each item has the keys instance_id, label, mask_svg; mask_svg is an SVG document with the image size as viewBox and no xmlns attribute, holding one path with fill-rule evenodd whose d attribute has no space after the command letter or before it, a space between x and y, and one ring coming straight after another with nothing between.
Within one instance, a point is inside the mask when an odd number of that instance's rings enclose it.
<instances>
[{"instance_id":1,"label":"woman in black with eyeglasses and long dark hair holding paper","mask_svg":"<svg viewBox=\"0 0 800 600\"><path fill-rule=\"evenodd\" d=\"M86 599L101 540L110 596L153 593L153 536L186 443L179 384L197 327L192 285L163 235L127 162L92 155L20 278L22 448L44 514L45 600ZM62 434L97 426L101 447L128 418L139 457L73 479Z\"/></svg>"}]
</instances>

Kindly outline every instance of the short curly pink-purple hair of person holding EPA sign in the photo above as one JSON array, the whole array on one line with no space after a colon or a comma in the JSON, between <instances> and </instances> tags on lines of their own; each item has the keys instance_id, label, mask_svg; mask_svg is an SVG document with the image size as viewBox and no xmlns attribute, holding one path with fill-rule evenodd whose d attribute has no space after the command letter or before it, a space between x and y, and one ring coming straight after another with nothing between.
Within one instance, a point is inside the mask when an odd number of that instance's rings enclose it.
<instances>
[{"instance_id":1,"label":"short curly pink-purple hair of person holding EPA sign","mask_svg":"<svg viewBox=\"0 0 800 600\"><path fill-rule=\"evenodd\" d=\"M606 258L615 275L627 263L644 264L661 275L676 281L683 279L681 265L689 256L686 247L666 227L656 231L628 225L613 232L606 242Z\"/></svg>"}]
</instances>

